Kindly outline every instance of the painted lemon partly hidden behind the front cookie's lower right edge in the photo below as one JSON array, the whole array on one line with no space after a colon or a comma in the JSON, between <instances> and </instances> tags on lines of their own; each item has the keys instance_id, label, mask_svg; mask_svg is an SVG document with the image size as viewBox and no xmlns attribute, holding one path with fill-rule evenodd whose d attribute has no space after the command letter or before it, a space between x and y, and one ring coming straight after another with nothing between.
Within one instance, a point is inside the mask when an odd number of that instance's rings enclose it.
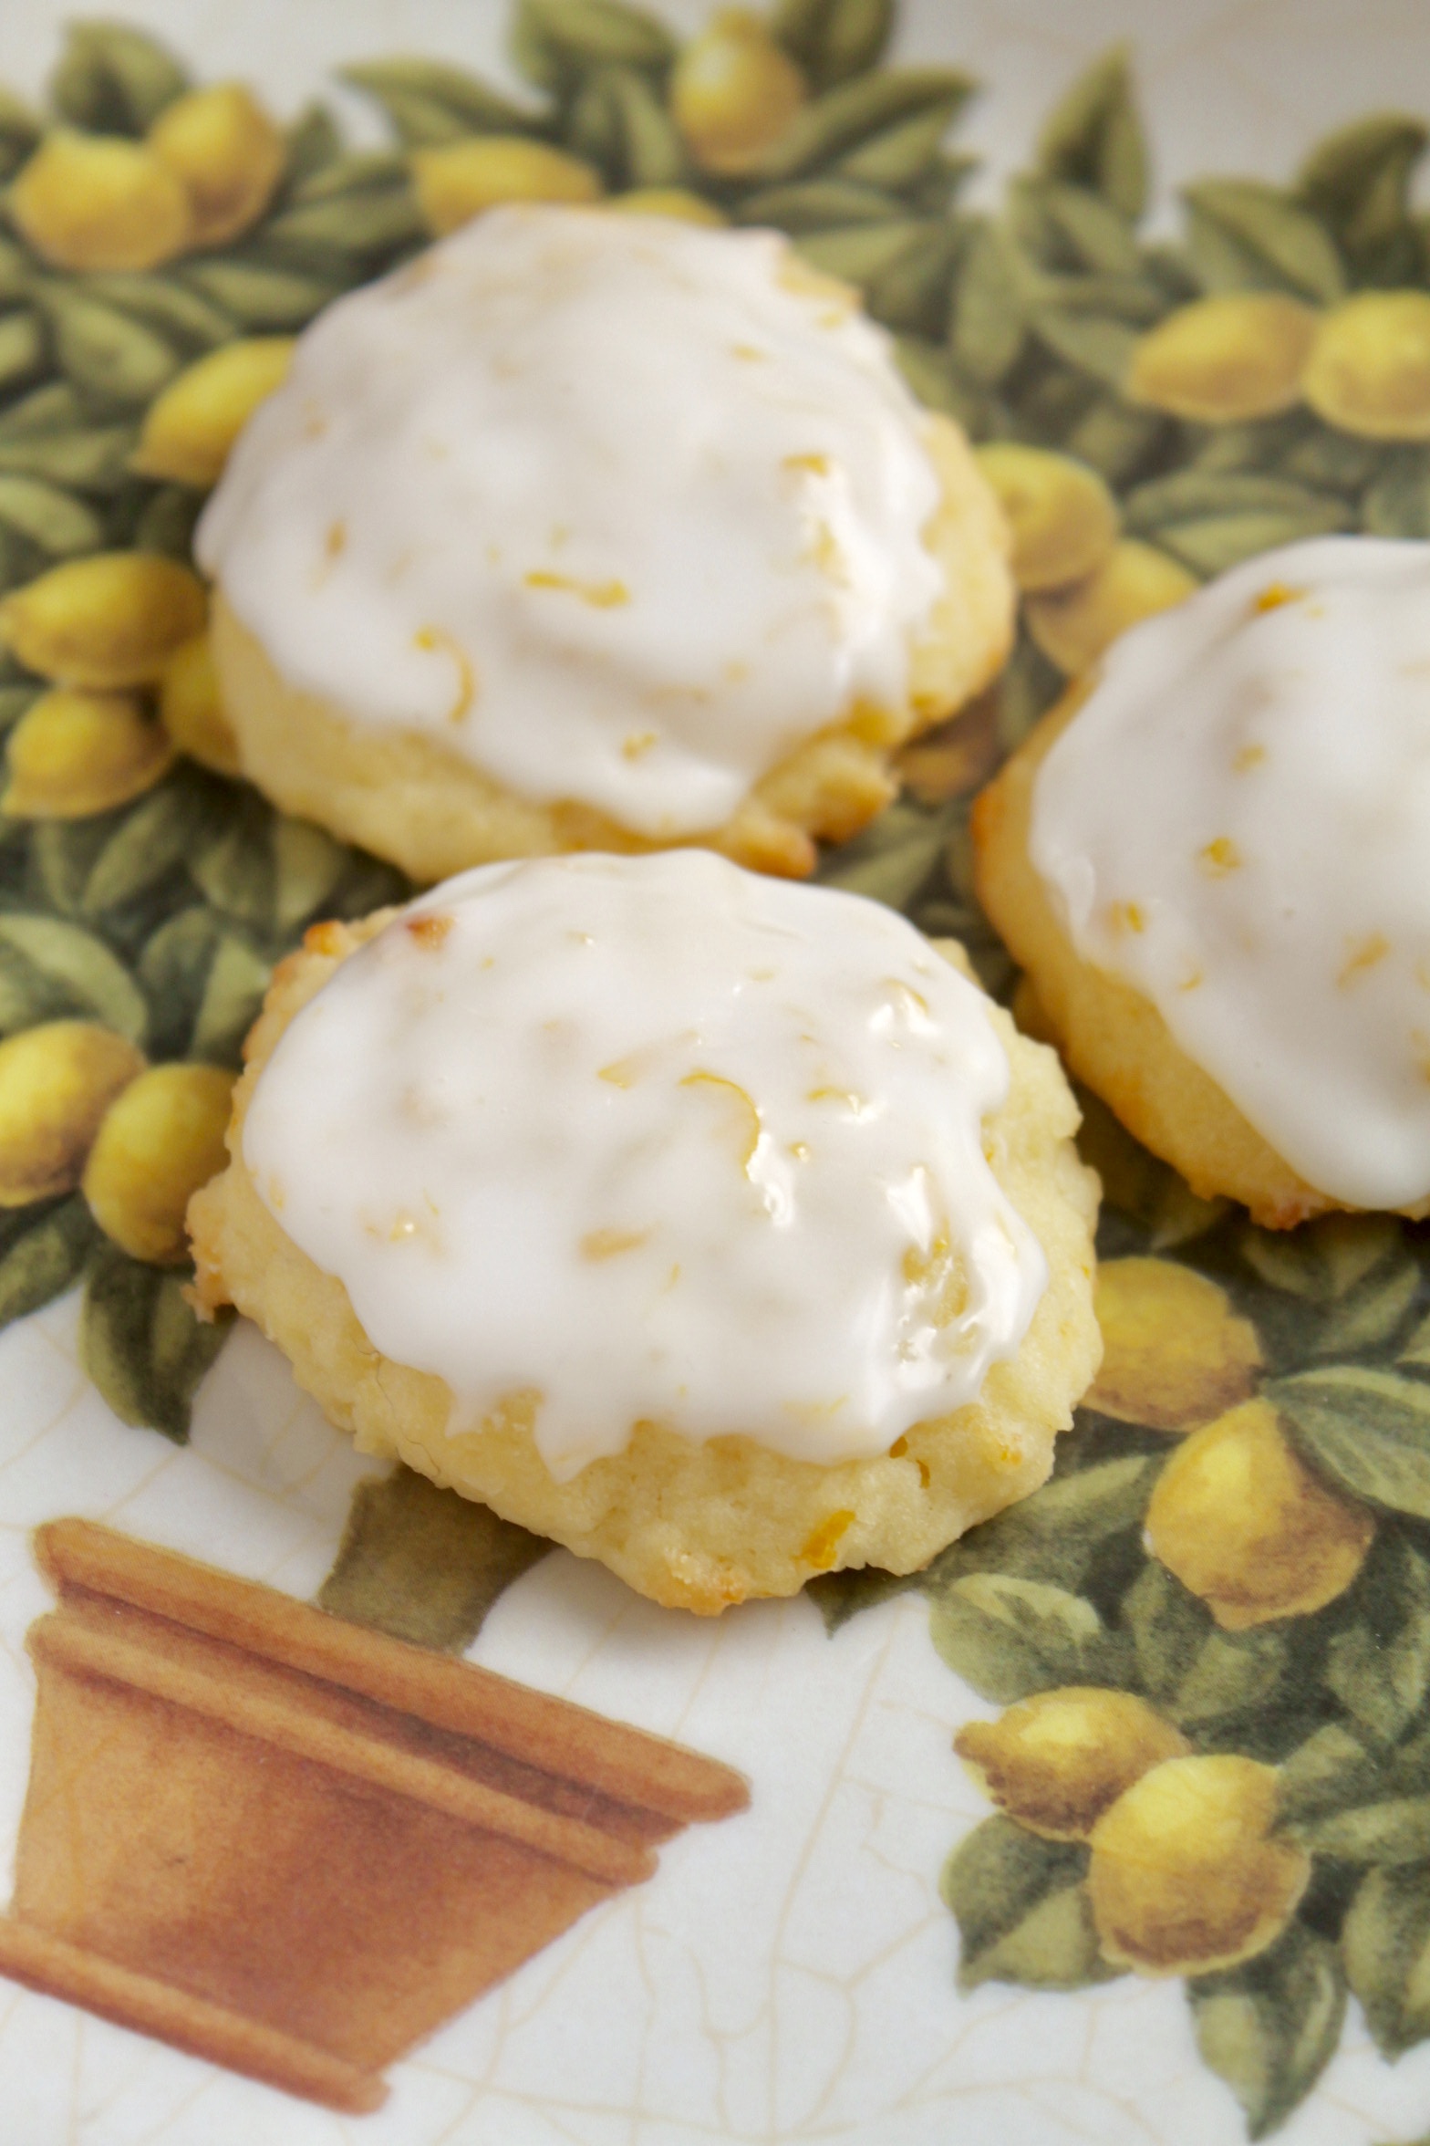
<instances>
[{"instance_id":1,"label":"painted lemon partly hidden behind the front cookie's lower right edge","mask_svg":"<svg viewBox=\"0 0 1430 2146\"><path fill-rule=\"evenodd\" d=\"M1098 1324L1102 1369L1087 1406L1104 1416L1188 1431L1256 1388L1256 1328L1226 1290L1175 1260L1104 1260Z\"/></svg>"}]
</instances>

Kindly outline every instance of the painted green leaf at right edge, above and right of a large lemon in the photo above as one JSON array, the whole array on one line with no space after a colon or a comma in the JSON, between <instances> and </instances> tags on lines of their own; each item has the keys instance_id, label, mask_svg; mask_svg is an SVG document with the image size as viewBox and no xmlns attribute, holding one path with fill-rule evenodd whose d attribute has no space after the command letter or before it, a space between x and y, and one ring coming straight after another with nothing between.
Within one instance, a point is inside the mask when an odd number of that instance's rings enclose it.
<instances>
[{"instance_id":1,"label":"painted green leaf at right edge, above and right of a large lemon","mask_svg":"<svg viewBox=\"0 0 1430 2146\"><path fill-rule=\"evenodd\" d=\"M1430 1519L1430 1384L1336 1365L1271 1380L1267 1395L1336 1483L1372 1504Z\"/></svg>"}]
</instances>

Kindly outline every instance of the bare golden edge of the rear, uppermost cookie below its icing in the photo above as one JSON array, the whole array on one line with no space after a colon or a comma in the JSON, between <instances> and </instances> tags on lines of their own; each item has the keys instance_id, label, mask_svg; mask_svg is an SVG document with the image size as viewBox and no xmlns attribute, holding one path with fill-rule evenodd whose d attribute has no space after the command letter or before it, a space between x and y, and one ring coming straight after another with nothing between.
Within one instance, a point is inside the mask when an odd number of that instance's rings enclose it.
<instances>
[{"instance_id":1,"label":"bare golden edge of the rear, uppermost cookie below its icing","mask_svg":"<svg viewBox=\"0 0 1430 2146\"><path fill-rule=\"evenodd\" d=\"M817 841L858 835L890 803L896 747L999 674L1014 620L1008 528L958 427L943 416L926 425L941 485L926 545L945 588L911 652L909 706L855 708L806 738L725 826L690 837L695 846L804 878ZM221 590L212 644L242 773L283 811L390 858L412 880L446 880L504 856L671 848L590 805L521 798L427 732L352 721L334 702L292 687Z\"/></svg>"}]
</instances>

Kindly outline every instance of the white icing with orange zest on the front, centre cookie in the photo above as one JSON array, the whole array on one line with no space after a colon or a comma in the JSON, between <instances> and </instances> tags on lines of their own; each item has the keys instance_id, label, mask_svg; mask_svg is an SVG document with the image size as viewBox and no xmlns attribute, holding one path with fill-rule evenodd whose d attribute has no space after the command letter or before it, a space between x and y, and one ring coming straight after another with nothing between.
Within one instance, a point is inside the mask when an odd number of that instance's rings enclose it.
<instances>
[{"instance_id":1,"label":"white icing with orange zest on the front, centre cookie","mask_svg":"<svg viewBox=\"0 0 1430 2146\"><path fill-rule=\"evenodd\" d=\"M639 1421L868 1457L973 1399L1046 1285L982 1150L986 1004L858 895L485 865L298 1013L242 1155L455 1429L540 1395L557 1481Z\"/></svg>"}]
</instances>

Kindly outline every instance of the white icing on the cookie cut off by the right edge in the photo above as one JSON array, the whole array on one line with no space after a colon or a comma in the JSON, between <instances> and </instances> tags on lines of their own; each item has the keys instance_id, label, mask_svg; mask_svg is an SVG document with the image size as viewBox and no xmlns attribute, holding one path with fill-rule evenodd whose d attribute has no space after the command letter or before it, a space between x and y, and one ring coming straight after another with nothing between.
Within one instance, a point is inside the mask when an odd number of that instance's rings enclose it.
<instances>
[{"instance_id":1,"label":"white icing on the cookie cut off by the right edge","mask_svg":"<svg viewBox=\"0 0 1430 2146\"><path fill-rule=\"evenodd\" d=\"M1126 633L1031 858L1310 1185L1430 1193L1430 545L1323 536Z\"/></svg>"}]
</instances>

